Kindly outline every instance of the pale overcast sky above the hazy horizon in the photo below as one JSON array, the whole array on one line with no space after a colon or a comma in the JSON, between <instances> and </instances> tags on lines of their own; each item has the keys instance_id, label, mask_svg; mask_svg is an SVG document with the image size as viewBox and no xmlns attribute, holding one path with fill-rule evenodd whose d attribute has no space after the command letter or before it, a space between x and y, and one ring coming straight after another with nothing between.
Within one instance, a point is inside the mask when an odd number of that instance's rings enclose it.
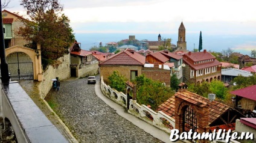
<instances>
[{"instance_id":1,"label":"pale overcast sky above the hazy horizon","mask_svg":"<svg viewBox=\"0 0 256 143\"><path fill-rule=\"evenodd\" d=\"M7 10L24 8L11 0ZM60 0L75 33L256 34L254 0Z\"/></svg>"}]
</instances>

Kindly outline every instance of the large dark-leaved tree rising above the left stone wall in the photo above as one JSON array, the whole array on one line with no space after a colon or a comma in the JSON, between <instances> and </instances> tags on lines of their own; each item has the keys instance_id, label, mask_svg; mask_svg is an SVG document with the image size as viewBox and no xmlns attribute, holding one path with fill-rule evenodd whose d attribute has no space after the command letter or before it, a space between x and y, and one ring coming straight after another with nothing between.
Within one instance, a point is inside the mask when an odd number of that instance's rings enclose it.
<instances>
[{"instance_id":1,"label":"large dark-leaved tree rising above the left stone wall","mask_svg":"<svg viewBox=\"0 0 256 143\"><path fill-rule=\"evenodd\" d=\"M57 59L67 53L74 42L74 34L68 17L61 14L63 7L59 1L22 0L21 5L31 19L21 19L25 26L18 31L19 35L31 42L27 46L36 48L34 46L40 44L42 58L45 59Z\"/></svg>"}]
</instances>

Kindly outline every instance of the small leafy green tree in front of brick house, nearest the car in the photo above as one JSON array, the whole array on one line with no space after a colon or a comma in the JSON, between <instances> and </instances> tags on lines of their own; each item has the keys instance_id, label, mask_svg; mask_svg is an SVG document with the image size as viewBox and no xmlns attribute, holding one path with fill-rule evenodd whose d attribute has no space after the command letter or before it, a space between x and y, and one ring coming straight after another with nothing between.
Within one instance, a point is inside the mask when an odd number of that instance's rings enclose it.
<instances>
[{"instance_id":1,"label":"small leafy green tree in front of brick house, nearest the car","mask_svg":"<svg viewBox=\"0 0 256 143\"><path fill-rule=\"evenodd\" d=\"M107 77L107 79L109 79L109 86L111 88L115 88L115 90L125 93L127 79L124 78L123 75L120 75L118 70L114 70L112 75Z\"/></svg>"}]
</instances>

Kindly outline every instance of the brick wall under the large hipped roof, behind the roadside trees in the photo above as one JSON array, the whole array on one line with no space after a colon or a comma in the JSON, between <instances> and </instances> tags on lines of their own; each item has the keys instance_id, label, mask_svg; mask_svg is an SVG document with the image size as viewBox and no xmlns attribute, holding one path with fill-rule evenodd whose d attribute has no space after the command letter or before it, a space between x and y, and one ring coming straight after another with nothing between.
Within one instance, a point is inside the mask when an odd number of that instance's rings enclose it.
<instances>
[{"instance_id":1,"label":"brick wall under the large hipped roof, behind the roadside trees","mask_svg":"<svg viewBox=\"0 0 256 143\"><path fill-rule=\"evenodd\" d=\"M104 82L108 82L107 77L112 75L114 70L118 70L121 75L130 81L130 71L137 70L138 76L141 75L141 65L100 65L100 76L103 76Z\"/></svg>"}]
</instances>

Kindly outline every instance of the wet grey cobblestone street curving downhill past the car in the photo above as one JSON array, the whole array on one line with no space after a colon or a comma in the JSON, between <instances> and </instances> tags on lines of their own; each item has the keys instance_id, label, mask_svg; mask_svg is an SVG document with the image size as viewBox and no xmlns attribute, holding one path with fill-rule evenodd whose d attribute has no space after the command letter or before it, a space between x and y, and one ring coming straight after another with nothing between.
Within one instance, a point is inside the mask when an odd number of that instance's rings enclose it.
<instances>
[{"instance_id":1,"label":"wet grey cobblestone street curving downhill past the car","mask_svg":"<svg viewBox=\"0 0 256 143\"><path fill-rule=\"evenodd\" d=\"M162 142L106 105L87 78L60 82L60 91L51 90L45 100L79 142Z\"/></svg>"}]
</instances>

